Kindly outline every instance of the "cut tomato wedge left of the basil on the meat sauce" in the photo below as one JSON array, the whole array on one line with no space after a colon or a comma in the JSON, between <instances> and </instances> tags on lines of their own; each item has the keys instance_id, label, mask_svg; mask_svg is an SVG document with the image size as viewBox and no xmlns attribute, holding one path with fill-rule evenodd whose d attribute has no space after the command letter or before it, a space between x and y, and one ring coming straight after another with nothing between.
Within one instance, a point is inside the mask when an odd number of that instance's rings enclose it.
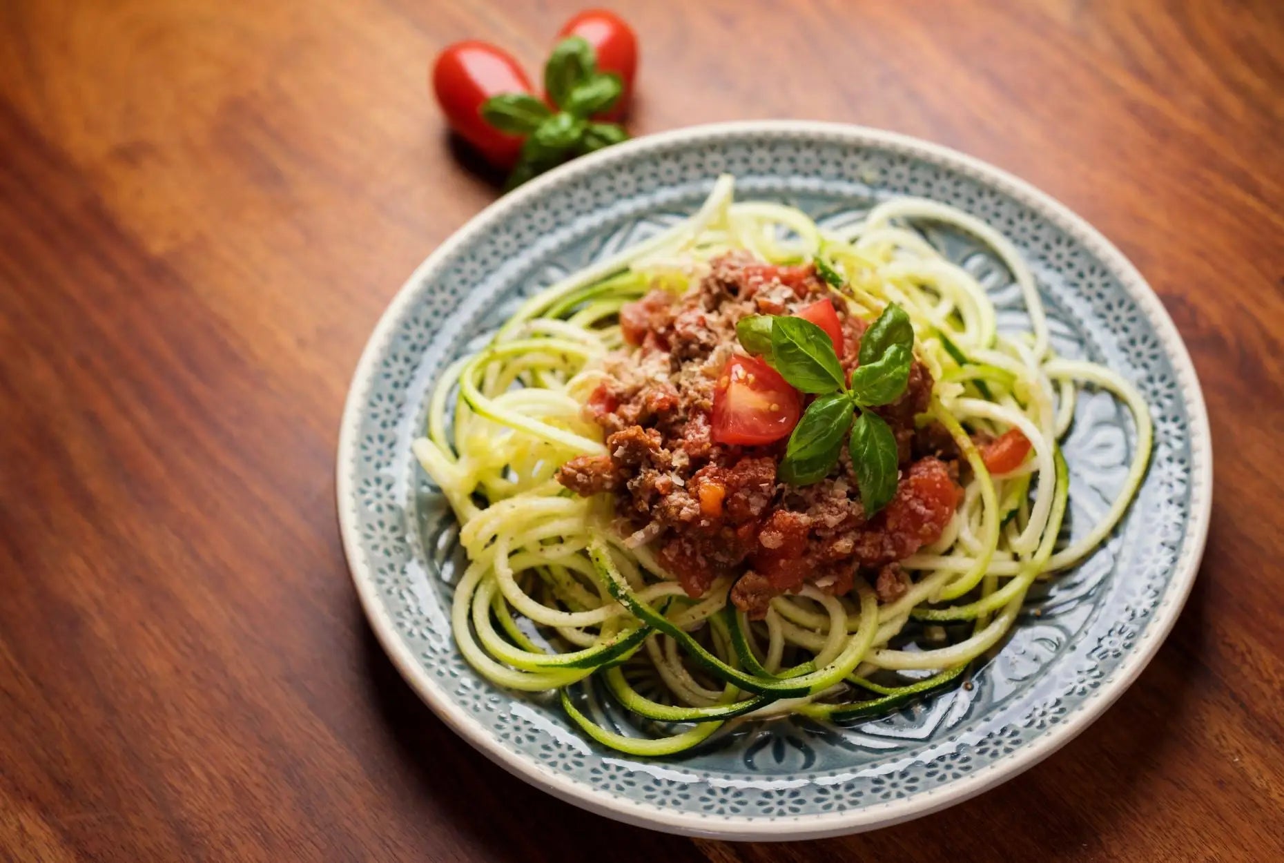
<instances>
[{"instance_id":1,"label":"cut tomato wedge left of the basil on the meat sauce","mask_svg":"<svg viewBox=\"0 0 1284 863\"><path fill-rule=\"evenodd\" d=\"M802 398L758 357L732 357L714 388L713 439L761 444L788 435L802 412Z\"/></svg>"}]
</instances>

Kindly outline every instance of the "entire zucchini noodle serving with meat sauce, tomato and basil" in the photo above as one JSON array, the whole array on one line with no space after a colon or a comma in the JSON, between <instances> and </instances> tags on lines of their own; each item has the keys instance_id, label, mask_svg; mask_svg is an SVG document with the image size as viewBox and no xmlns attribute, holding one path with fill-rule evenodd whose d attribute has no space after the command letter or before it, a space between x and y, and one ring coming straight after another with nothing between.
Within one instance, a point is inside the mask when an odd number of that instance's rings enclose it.
<instances>
[{"instance_id":1,"label":"entire zucchini noodle serving with meat sauce, tomato and basil","mask_svg":"<svg viewBox=\"0 0 1284 863\"><path fill-rule=\"evenodd\" d=\"M1144 401L1055 356L993 227L919 199L823 227L732 193L719 179L690 218L526 299L437 383L413 444L470 560L465 659L557 690L636 755L966 678L1034 580L1113 530L1149 458ZM914 230L932 222L990 247L1027 330L1000 331ZM1108 510L1062 542L1080 384L1126 405L1136 444Z\"/></svg>"}]
</instances>

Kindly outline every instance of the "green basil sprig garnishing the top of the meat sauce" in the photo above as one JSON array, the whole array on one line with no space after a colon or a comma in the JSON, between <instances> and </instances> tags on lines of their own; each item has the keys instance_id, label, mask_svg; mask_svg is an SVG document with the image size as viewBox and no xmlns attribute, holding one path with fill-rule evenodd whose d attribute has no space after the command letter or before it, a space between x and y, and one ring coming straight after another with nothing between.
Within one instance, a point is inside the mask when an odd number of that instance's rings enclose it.
<instances>
[{"instance_id":1,"label":"green basil sprig garnishing the top of the meat sauce","mask_svg":"<svg viewBox=\"0 0 1284 863\"><path fill-rule=\"evenodd\" d=\"M819 258L818 258L819 261ZM819 270L819 267L818 267ZM752 315L736 324L747 352L763 357L792 387L818 396L790 434L781 479L809 485L824 479L838 461L842 439L860 484L867 515L887 506L896 493L896 435L868 410L900 398L914 361L914 327L896 303L889 303L860 340L860 365L844 379L833 342L801 317ZM853 419L855 411L855 419Z\"/></svg>"}]
</instances>

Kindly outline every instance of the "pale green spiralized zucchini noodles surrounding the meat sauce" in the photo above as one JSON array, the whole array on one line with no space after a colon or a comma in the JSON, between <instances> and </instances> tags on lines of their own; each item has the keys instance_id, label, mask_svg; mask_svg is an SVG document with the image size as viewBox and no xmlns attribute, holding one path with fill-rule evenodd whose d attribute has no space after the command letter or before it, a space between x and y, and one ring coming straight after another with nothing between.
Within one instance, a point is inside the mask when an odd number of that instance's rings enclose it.
<instances>
[{"instance_id":1,"label":"pale green spiralized zucchini noodles surrounding the meat sauce","mask_svg":"<svg viewBox=\"0 0 1284 863\"><path fill-rule=\"evenodd\" d=\"M584 733L633 755L681 753L765 717L877 715L967 677L1003 642L1039 577L1111 536L1150 456L1141 396L1108 369L1055 356L1030 268L989 225L895 199L827 232L799 209L733 203L732 193L732 177L720 177L686 221L525 301L488 347L443 372L413 443L470 560L451 615L464 658L498 686L559 690ZM1018 286L1030 331L1000 333L985 289L914 230L919 222L986 244ZM654 285L684 290L713 258L743 249L773 265L823 257L849 313L868 320L895 302L910 318L915 356L936 381L919 423L950 433L964 493L940 539L900 561L910 584L892 602L880 604L858 573L846 596L808 584L750 620L729 602L731 578L688 597L660 565L655 534L616 536L609 496L577 497L555 478L571 457L606 452L582 408L602 360L624 344L621 306ZM1106 515L1058 548L1070 496L1058 442L1081 385L1129 410L1135 446ZM991 475L975 438L1008 429L1030 453Z\"/></svg>"}]
</instances>

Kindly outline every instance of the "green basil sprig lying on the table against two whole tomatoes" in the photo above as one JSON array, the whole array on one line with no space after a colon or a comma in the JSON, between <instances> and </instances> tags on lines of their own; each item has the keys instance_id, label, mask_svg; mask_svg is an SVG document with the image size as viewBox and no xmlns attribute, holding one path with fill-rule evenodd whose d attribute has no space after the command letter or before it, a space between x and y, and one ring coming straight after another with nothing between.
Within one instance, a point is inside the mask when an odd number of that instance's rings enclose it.
<instances>
[{"instance_id":1,"label":"green basil sprig lying on the table against two whole tomatoes","mask_svg":"<svg viewBox=\"0 0 1284 863\"><path fill-rule=\"evenodd\" d=\"M600 150L628 139L618 123L589 118L610 110L624 92L614 72L597 69L597 53L583 36L557 42L544 64L544 92L552 110L525 92L502 92L482 104L482 118L510 135L525 135L517 163L505 189L520 186L566 159Z\"/></svg>"}]
</instances>

